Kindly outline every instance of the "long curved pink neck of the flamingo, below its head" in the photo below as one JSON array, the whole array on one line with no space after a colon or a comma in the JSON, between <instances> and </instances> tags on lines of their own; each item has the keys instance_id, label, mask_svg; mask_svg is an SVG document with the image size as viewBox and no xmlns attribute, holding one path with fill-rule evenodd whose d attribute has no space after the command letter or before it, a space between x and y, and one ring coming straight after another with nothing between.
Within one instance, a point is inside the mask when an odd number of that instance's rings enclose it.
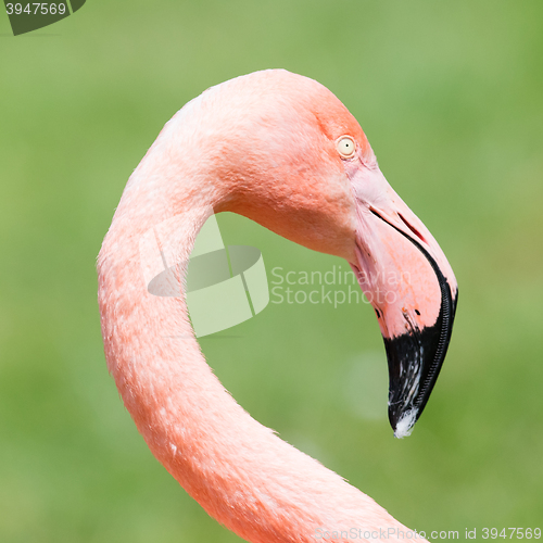
<instances>
[{"instance_id":1,"label":"long curved pink neck of the flamingo, below its head","mask_svg":"<svg viewBox=\"0 0 543 543\"><path fill-rule=\"evenodd\" d=\"M148 292L156 254L167 245L168 258L186 262L222 198L207 184L195 190L205 182L200 173L184 181L181 197L168 193L172 168L157 142L127 185L98 263L108 366L139 431L187 492L249 541L314 542L323 531L351 529L395 530L386 538L394 541L407 529L254 420L223 388L190 326L184 266L179 296ZM176 215L174 205L187 212Z\"/></svg>"}]
</instances>

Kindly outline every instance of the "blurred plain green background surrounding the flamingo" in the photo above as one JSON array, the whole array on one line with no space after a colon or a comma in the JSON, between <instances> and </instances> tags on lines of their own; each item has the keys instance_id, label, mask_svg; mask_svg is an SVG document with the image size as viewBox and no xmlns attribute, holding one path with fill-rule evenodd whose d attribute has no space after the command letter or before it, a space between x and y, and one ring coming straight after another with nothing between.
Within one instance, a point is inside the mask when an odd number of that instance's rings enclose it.
<instances>
[{"instance_id":1,"label":"blurred plain green background surrounding the flamingo","mask_svg":"<svg viewBox=\"0 0 543 543\"><path fill-rule=\"evenodd\" d=\"M201 340L210 365L256 419L411 528L542 527L541 0L90 0L10 31L0 15L0 541L239 541L123 407L94 264L164 123L267 67L319 80L361 122L456 273L455 330L402 441L367 305L270 303ZM345 267L241 217L219 225L268 272Z\"/></svg>"}]
</instances>

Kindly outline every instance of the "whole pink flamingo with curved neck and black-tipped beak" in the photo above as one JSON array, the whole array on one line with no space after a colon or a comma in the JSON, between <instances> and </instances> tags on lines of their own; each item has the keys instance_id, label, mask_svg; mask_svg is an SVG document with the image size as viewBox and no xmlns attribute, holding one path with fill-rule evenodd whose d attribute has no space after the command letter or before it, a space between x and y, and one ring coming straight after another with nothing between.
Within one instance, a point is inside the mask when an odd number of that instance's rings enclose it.
<instances>
[{"instance_id":1,"label":"whole pink flamingo with curved neck and black-tipped beak","mask_svg":"<svg viewBox=\"0 0 543 543\"><path fill-rule=\"evenodd\" d=\"M192 332L182 278L177 298L149 293L141 240L152 232L162 251L175 239L182 275L212 210L351 264L384 338L396 437L418 419L450 341L457 286L444 254L346 108L318 83L273 70L206 90L165 125L98 260L109 370L154 456L211 516L255 543L348 541L348 530L404 541L382 507L228 394Z\"/></svg>"}]
</instances>

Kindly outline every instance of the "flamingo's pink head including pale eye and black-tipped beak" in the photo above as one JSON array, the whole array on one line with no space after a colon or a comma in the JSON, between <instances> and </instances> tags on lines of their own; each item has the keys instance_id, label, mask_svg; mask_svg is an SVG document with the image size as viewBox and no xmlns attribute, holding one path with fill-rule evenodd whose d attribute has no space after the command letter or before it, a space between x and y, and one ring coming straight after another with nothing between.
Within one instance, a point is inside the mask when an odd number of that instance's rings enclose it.
<instances>
[{"instance_id":1,"label":"flamingo's pink head including pale eye and black-tipped beak","mask_svg":"<svg viewBox=\"0 0 543 543\"><path fill-rule=\"evenodd\" d=\"M356 119L320 84L265 71L200 98L198 126L213 129L195 147L209 150L205 169L224 188L215 211L351 264L384 339L390 422L407 435L451 339L457 283L442 250L387 182Z\"/></svg>"}]
</instances>

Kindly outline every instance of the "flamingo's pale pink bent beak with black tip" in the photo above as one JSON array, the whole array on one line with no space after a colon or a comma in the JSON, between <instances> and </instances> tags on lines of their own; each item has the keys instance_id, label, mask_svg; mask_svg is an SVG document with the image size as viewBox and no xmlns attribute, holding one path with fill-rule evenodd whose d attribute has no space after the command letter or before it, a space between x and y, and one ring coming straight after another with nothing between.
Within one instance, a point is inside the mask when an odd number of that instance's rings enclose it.
<instances>
[{"instance_id":1,"label":"flamingo's pale pink bent beak with black tip","mask_svg":"<svg viewBox=\"0 0 543 543\"><path fill-rule=\"evenodd\" d=\"M375 308L389 364L389 419L396 438L420 417L445 358L458 299L453 270L377 164L345 164L357 212L351 263Z\"/></svg>"}]
</instances>

